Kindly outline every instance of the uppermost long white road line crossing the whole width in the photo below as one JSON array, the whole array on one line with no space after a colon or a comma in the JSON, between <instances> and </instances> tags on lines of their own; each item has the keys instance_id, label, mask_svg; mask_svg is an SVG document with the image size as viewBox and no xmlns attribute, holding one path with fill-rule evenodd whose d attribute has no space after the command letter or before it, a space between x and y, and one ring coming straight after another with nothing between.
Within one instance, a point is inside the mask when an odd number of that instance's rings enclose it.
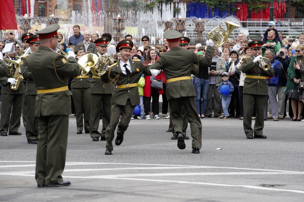
<instances>
[{"instance_id":1,"label":"uppermost long white road line crossing the whole width","mask_svg":"<svg viewBox=\"0 0 304 202\"><path fill-rule=\"evenodd\" d=\"M0 161L0 162L31 162L35 161ZM237 170L259 170L259 171L273 171L273 172L293 172L293 173L304 173L302 171L290 171L290 170L269 170L269 169L256 169L256 168L237 168L237 167L215 167L215 166L191 166L191 165L167 165L167 164L146 164L146 163L96 163L96 162L66 162L68 165L144 165L144 166L177 166L177 167L195 167L195 168L220 168L220 169L237 169Z\"/></svg>"}]
</instances>

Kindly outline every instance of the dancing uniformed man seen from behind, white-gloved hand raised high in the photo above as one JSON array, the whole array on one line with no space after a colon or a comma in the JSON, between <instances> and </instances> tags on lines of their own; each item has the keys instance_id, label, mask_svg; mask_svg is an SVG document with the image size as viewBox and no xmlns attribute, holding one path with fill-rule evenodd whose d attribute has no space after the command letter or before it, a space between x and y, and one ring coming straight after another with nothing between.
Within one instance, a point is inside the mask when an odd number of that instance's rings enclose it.
<instances>
[{"instance_id":1,"label":"dancing uniformed man seen from behind, white-gloved hand raised high","mask_svg":"<svg viewBox=\"0 0 304 202\"><path fill-rule=\"evenodd\" d=\"M198 66L210 66L214 52L213 42L206 41L206 56L199 57L193 51L179 47L182 34L175 30L164 32L164 38L168 39L170 51L159 56L152 65L153 69L162 69L167 79L166 95L170 106L172 125L177 132L177 146L185 149L184 135L182 134L182 111L184 104L188 122L190 123L192 140L192 153L199 153L202 147L202 122L197 115L195 106L195 90L190 75L194 64ZM198 70L195 71L196 74ZM193 72L194 73L194 72Z\"/></svg>"}]
</instances>

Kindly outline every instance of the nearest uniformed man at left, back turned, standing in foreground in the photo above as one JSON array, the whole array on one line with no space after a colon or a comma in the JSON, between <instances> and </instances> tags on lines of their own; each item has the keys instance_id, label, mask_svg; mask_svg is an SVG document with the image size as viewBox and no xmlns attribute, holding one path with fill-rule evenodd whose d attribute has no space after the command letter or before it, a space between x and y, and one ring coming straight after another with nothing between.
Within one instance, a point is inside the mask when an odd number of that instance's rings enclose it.
<instances>
[{"instance_id":1,"label":"nearest uniformed man at left, back turned, standing in foreground","mask_svg":"<svg viewBox=\"0 0 304 202\"><path fill-rule=\"evenodd\" d=\"M50 25L35 32L40 47L29 55L28 65L37 89L35 116L38 117L39 135L35 178L37 187L68 186L62 172L67 150L71 91L68 78L78 76L79 65L73 51L67 57L54 52L59 25Z\"/></svg>"}]
</instances>

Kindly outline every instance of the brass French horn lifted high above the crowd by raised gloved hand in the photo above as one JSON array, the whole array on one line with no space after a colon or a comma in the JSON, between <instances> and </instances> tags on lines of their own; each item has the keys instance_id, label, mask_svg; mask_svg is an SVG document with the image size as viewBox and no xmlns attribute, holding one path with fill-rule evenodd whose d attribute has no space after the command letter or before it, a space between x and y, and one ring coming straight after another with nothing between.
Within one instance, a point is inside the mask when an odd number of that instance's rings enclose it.
<instances>
[{"instance_id":1,"label":"brass French horn lifted high above the crowd by raised gloved hand","mask_svg":"<svg viewBox=\"0 0 304 202\"><path fill-rule=\"evenodd\" d=\"M206 32L204 31L205 35L207 36L207 39L211 39L214 43L213 47L217 48L222 46L227 39L229 38L229 35L231 34L231 32L240 27L240 25L237 25L233 22L229 22L224 20L224 22L226 23L227 26L227 32L225 32L225 30L221 27L221 25L217 25L216 28L212 29L208 35L206 34Z\"/></svg>"}]
</instances>

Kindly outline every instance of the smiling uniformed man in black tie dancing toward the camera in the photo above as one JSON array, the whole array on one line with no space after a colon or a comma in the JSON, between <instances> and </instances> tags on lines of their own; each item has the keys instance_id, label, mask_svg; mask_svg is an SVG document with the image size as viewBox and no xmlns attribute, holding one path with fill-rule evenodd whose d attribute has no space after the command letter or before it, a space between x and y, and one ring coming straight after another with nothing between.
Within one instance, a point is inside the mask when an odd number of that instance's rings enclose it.
<instances>
[{"instance_id":1,"label":"smiling uniformed man in black tie dancing toward the camera","mask_svg":"<svg viewBox=\"0 0 304 202\"><path fill-rule=\"evenodd\" d=\"M113 86L117 85L112 94L111 121L105 130L105 139L107 141L105 155L112 154L112 134L122 111L122 117L117 126L115 144L119 146L123 142L123 135L129 126L133 110L140 103L137 82L142 74L156 76L160 73L159 70L151 69L151 67L144 65L140 59L129 59L132 47L133 42L131 40L124 39L120 41L116 45L116 51L120 53L121 59L112 64L109 71L101 76L103 82L109 82Z\"/></svg>"}]
</instances>

